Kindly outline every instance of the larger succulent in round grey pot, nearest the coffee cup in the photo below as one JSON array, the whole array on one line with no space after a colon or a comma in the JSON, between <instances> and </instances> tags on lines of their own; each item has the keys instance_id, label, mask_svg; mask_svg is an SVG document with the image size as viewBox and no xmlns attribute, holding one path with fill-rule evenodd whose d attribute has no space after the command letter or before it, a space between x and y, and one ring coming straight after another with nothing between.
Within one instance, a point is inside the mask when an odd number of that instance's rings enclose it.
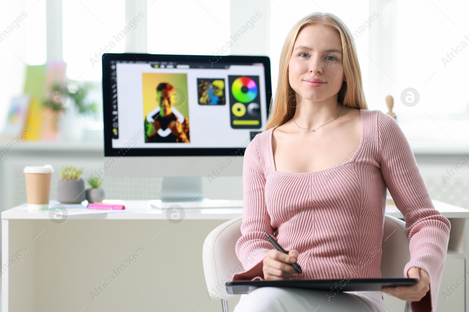
<instances>
[{"instance_id":1,"label":"larger succulent in round grey pot, nearest the coffee cup","mask_svg":"<svg viewBox=\"0 0 469 312\"><path fill-rule=\"evenodd\" d=\"M85 183L80 179L83 168L62 166L61 180L57 183L57 200L61 203L81 203L86 199Z\"/></svg>"}]
</instances>

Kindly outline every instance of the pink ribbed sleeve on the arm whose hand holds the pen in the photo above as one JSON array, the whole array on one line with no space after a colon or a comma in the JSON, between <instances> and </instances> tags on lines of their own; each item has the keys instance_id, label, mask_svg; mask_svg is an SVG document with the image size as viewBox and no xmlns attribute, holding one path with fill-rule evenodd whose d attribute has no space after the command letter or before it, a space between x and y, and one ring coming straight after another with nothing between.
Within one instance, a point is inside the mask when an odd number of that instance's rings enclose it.
<instances>
[{"instance_id":1,"label":"pink ribbed sleeve on the arm whose hand holds the pen","mask_svg":"<svg viewBox=\"0 0 469 312\"><path fill-rule=\"evenodd\" d=\"M235 280L264 280L263 260L273 245L265 232L273 235L271 220L265 206L265 176L263 162L257 150L258 137L246 147L242 168L243 205L242 236L236 242L235 251L244 272L234 274Z\"/></svg>"}]
</instances>

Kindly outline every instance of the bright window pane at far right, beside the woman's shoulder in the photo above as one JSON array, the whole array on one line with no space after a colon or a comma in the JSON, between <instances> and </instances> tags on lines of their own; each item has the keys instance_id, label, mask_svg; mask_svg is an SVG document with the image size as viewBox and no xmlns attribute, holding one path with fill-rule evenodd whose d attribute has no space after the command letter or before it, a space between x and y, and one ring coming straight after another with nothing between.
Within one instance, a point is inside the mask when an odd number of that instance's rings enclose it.
<instances>
[{"instance_id":1,"label":"bright window pane at far right, beside the woman's shoulder","mask_svg":"<svg viewBox=\"0 0 469 312\"><path fill-rule=\"evenodd\" d=\"M401 127L415 147L467 146L469 2L460 0L451 6L441 0L396 3L393 95ZM420 97L414 106L400 99L408 87Z\"/></svg>"}]
</instances>

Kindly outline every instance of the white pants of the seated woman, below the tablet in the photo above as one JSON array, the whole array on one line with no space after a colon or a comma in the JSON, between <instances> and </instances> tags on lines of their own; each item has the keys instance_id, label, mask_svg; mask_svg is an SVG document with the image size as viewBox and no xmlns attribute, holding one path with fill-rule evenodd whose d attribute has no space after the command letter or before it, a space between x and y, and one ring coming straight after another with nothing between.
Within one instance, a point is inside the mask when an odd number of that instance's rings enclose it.
<instances>
[{"instance_id":1,"label":"white pants of the seated woman, below the tablet","mask_svg":"<svg viewBox=\"0 0 469 312\"><path fill-rule=\"evenodd\" d=\"M387 312L381 291L260 287L241 295L234 312Z\"/></svg>"}]
</instances>

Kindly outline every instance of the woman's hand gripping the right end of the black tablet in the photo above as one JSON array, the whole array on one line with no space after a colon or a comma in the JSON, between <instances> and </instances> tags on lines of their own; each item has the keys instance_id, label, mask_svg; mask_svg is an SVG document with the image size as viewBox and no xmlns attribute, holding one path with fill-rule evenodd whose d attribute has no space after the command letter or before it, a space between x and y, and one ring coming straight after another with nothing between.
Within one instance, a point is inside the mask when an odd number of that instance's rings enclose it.
<instances>
[{"instance_id":1,"label":"woman's hand gripping the right end of the black tablet","mask_svg":"<svg viewBox=\"0 0 469 312\"><path fill-rule=\"evenodd\" d=\"M417 267L409 268L409 278L417 278L418 283L410 286L382 287L381 291L406 301L420 301L430 290L430 277L425 270Z\"/></svg>"}]
</instances>

